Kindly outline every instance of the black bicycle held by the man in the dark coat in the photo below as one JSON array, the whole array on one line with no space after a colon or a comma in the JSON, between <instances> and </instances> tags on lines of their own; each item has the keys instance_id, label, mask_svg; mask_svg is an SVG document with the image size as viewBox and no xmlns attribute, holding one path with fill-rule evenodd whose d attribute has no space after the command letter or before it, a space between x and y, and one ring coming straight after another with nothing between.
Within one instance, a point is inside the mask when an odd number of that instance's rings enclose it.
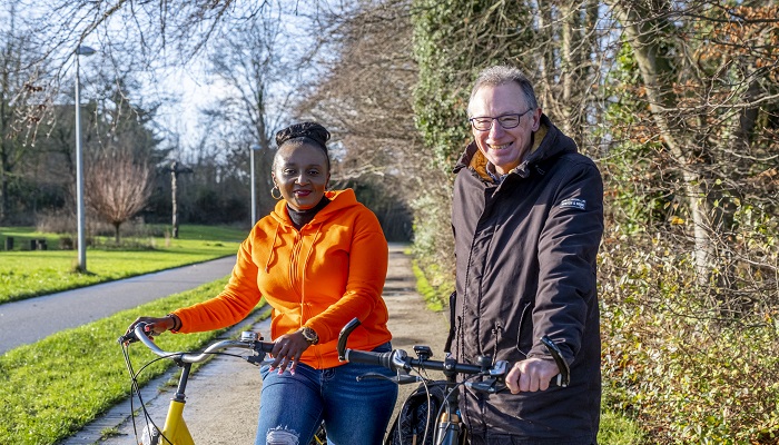
<instances>
[{"instance_id":1,"label":"black bicycle held by the man in the dark coat","mask_svg":"<svg viewBox=\"0 0 779 445\"><path fill-rule=\"evenodd\" d=\"M443 385L444 386L444 399L441 408L436 413L435 418L437 422L435 424L435 437L432 442L436 445L461 445L467 443L467 432L462 424L460 417L460 384L456 382L457 374L463 374L470 376L470 378L479 378L474 382L464 382L463 384L477 393L484 394L496 394L506 389L505 377L509 374L509 362L496 360L493 363L492 357L489 355L477 357L477 365L458 363L452 357L446 357L444 360L431 360L430 357L433 356L433 352L428 346L415 345L414 352L417 358L412 358L403 349L394 349L389 353L372 353L365 350L348 349L346 347L346 342L349 334L359 326L361 322L357 318L352 319L346 326L343 327L338 334L338 359L342 362L354 362L364 363L372 365L384 366L387 369L396 372L396 376L392 378L393 382L398 385L405 385L411 383L422 383L427 390L427 416L424 421L425 428L424 435L422 436L422 442L417 442L416 437L413 438L413 444L427 445L428 433L431 426L431 404L430 404L430 392L431 385ZM570 369L568 363L562 358L562 353L560 348L546 336L542 339L542 343L546 346L554 362L560 368L560 374L550 383L552 386L566 387L570 383ZM444 380L431 380L422 376L426 369L430 370L441 370L443 372ZM415 370L416 376L411 375L411 372ZM365 375L364 378L386 378L382 375ZM398 414L398 425L401 421L401 414ZM397 428L398 434L401 428ZM387 436L385 444L391 444L393 441L392 433ZM401 441L402 442L402 441Z\"/></svg>"}]
</instances>

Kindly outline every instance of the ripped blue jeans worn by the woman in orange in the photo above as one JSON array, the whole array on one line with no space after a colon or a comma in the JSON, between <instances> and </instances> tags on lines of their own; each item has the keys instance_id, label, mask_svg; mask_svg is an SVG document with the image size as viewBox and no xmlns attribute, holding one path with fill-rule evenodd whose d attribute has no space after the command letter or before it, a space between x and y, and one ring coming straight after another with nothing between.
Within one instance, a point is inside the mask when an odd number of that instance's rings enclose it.
<instances>
[{"instance_id":1,"label":"ripped blue jeans worn by the woman in orange","mask_svg":"<svg viewBox=\"0 0 779 445\"><path fill-rule=\"evenodd\" d=\"M375 352L392 350L389 343ZM259 422L256 445L307 445L325 421L331 445L376 445L397 399L397 385L382 378L357 382L357 376L379 373L392 377L389 369L347 363L327 369L298 364L295 375L278 375L260 368L263 390L259 396Z\"/></svg>"}]
</instances>

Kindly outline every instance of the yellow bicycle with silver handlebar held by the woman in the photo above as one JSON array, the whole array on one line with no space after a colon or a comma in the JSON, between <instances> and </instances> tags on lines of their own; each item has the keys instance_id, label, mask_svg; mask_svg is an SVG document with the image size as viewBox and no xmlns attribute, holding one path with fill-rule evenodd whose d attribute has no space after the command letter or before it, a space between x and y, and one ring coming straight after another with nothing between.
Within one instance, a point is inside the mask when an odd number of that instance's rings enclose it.
<instances>
[{"instance_id":1,"label":"yellow bicycle with silver handlebar held by the woman","mask_svg":"<svg viewBox=\"0 0 779 445\"><path fill-rule=\"evenodd\" d=\"M263 342L263 337L259 336L259 334L255 332L248 332L245 330L240 334L239 339L236 340L219 340L215 342L210 345L208 345L203 353L200 354L191 354L191 353L183 353L183 352L166 352L160 349L154 340L148 336L148 333L146 333L145 329L146 324L145 323L139 323L136 325L134 330L131 333L125 334L119 337L118 342L120 345L122 345L122 353L125 355L125 363L127 364L127 370L130 374L130 379L132 382L132 393L135 393L138 396L141 409L144 412L144 417L146 419L146 426L144 427L144 431L141 433L141 438L140 442L138 442L141 445L194 445L195 442L193 439L191 434L189 433L189 428L187 427L187 424L184 419L184 406L186 403L186 387L187 387L187 382L189 379L189 374L191 370L191 366L195 363L201 363L208 359L208 357L216 355L216 354L221 354L221 355L228 355L233 357L238 357L243 358L246 362L259 366L263 360L265 359L266 354L270 353L274 347L273 342ZM140 342L144 346L149 348L152 353L159 356L159 358L156 358L146 365L141 367L138 373L136 373L132 369L132 364L130 362L129 357L129 352L128 347L129 344ZM238 348L238 349L245 349L250 352L249 355L236 355L233 353L223 353L223 350L228 349L228 348ZM162 428L160 429L157 424L150 418L149 414L146 412L146 406L144 404L144 400L140 396L140 388L138 386L138 380L137 376L140 374L144 368L146 368L148 365L151 363L162 359L162 358L168 358L174 360L177 366L181 368L181 375L178 380L178 386L176 389L176 394L174 397L170 399L170 404L168 406L168 412L165 418L165 424ZM138 429L135 424L135 408L132 407L132 403L130 402L130 409L132 412L132 425L135 428L135 434L136 438L138 438ZM317 429L316 434L312 438L308 445L324 445L327 443L326 439L326 432L324 427L324 423L319 426Z\"/></svg>"}]
</instances>

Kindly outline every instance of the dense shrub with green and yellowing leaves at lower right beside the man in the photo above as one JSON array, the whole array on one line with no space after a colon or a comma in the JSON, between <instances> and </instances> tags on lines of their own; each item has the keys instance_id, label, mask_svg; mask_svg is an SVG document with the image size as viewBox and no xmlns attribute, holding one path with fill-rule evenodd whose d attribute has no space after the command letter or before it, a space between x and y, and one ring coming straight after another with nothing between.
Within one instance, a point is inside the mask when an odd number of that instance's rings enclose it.
<instances>
[{"instance_id":1,"label":"dense shrub with green and yellowing leaves at lower right beside the man","mask_svg":"<svg viewBox=\"0 0 779 445\"><path fill-rule=\"evenodd\" d=\"M723 310L678 251L661 236L604 239L609 402L634 413L658 444L779 443L777 303Z\"/></svg>"}]
</instances>

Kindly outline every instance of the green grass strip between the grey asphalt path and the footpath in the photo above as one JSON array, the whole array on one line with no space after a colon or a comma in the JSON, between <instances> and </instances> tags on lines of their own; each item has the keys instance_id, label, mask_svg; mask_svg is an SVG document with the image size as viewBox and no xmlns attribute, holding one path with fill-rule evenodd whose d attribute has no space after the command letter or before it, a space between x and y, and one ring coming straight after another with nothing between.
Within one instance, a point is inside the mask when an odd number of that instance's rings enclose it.
<instances>
[{"instance_id":1,"label":"green grass strip between the grey asphalt path and the footpath","mask_svg":"<svg viewBox=\"0 0 779 445\"><path fill-rule=\"evenodd\" d=\"M117 338L140 315L164 315L218 294L227 279L65 330L0 356L0 443L53 444L68 437L129 394ZM157 337L168 350L197 350L219 332ZM136 372L154 356L131 345ZM147 368L139 382L162 374L170 360Z\"/></svg>"}]
</instances>

